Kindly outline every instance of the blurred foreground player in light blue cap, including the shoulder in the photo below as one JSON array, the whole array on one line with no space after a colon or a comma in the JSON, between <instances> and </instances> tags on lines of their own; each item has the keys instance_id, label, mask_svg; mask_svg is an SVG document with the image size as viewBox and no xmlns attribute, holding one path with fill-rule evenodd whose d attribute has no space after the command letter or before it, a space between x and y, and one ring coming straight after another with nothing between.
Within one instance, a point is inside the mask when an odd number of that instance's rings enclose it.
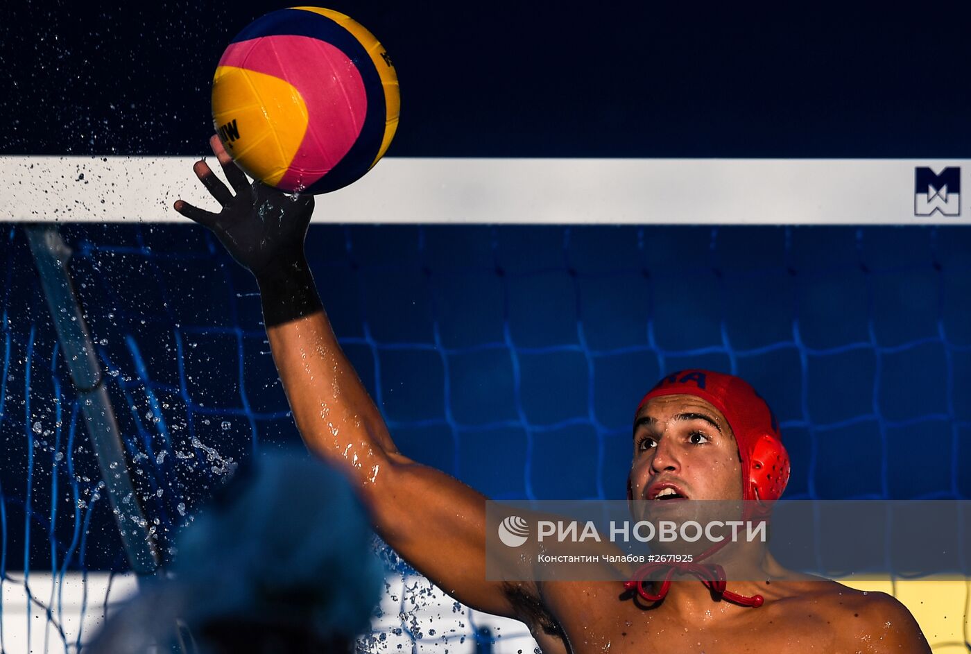
<instances>
[{"instance_id":1,"label":"blurred foreground player in light blue cap, including the shoulder","mask_svg":"<svg viewBox=\"0 0 971 654\"><path fill-rule=\"evenodd\" d=\"M169 579L120 607L91 654L333 652L369 630L384 573L349 481L306 453L254 457L177 540Z\"/></svg>"}]
</instances>

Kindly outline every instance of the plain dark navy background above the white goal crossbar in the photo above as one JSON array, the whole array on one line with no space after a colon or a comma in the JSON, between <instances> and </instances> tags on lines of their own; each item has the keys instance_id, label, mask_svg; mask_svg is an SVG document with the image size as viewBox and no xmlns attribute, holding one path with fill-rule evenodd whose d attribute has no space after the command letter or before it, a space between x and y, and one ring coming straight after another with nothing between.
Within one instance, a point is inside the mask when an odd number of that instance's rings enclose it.
<instances>
[{"instance_id":1,"label":"plain dark navy background above the white goal crossbar","mask_svg":"<svg viewBox=\"0 0 971 654\"><path fill-rule=\"evenodd\" d=\"M204 153L222 49L289 4L3 3L0 153ZM966 2L323 4L394 59L391 156L971 150Z\"/></svg>"}]
</instances>

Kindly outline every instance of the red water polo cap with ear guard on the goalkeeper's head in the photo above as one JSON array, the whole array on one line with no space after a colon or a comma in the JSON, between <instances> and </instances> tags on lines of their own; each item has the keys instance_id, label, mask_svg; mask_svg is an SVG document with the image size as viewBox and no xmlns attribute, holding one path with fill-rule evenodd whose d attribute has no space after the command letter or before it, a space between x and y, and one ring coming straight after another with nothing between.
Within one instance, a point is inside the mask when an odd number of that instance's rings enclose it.
<instances>
[{"instance_id":1,"label":"red water polo cap with ear guard on the goalkeeper's head","mask_svg":"<svg viewBox=\"0 0 971 654\"><path fill-rule=\"evenodd\" d=\"M707 370L680 371L658 381L637 409L652 398L680 394L705 400L728 421L742 459L742 499L778 500L788 483L788 453L772 409L749 382Z\"/></svg>"}]
</instances>

